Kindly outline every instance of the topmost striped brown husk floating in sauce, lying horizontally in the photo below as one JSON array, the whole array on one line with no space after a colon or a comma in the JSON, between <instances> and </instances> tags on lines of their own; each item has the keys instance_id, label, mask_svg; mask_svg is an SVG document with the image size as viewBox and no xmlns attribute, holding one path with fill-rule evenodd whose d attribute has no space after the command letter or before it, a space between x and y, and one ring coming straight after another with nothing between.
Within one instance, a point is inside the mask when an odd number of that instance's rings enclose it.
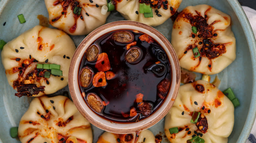
<instances>
[{"instance_id":1,"label":"topmost striped brown husk floating in sauce, lying horizontally","mask_svg":"<svg viewBox=\"0 0 256 143\"><path fill-rule=\"evenodd\" d=\"M133 34L128 31L117 31L112 37L119 43L131 43L134 40Z\"/></svg>"}]
</instances>

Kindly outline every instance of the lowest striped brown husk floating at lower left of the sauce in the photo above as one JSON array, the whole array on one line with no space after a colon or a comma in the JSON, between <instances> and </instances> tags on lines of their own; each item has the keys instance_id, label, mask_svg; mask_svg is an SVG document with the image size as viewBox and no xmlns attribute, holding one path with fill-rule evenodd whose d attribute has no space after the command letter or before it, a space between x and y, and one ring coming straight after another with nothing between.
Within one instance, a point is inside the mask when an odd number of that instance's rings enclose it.
<instances>
[{"instance_id":1,"label":"lowest striped brown husk floating at lower left of the sauce","mask_svg":"<svg viewBox=\"0 0 256 143\"><path fill-rule=\"evenodd\" d=\"M103 109L102 100L95 93L88 93L86 97L88 105L97 113Z\"/></svg>"}]
</instances>

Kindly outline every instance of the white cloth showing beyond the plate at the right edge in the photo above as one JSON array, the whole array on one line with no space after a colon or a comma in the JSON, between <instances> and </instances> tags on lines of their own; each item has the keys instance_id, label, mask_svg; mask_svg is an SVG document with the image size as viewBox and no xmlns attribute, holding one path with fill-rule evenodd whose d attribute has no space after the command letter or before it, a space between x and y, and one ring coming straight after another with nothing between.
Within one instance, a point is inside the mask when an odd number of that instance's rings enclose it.
<instances>
[{"instance_id":1,"label":"white cloth showing beyond the plate at the right edge","mask_svg":"<svg viewBox=\"0 0 256 143\"><path fill-rule=\"evenodd\" d=\"M249 7L245 7L245 6L242 6L242 7L245 11L245 14L246 14L250 24L251 24L251 27L252 27L252 30L253 30L253 33L255 36L256 35L256 10L249 8ZM256 136L256 122L254 121L254 125L252 127L251 133L250 133L246 143L256 143L255 136Z\"/></svg>"}]
</instances>

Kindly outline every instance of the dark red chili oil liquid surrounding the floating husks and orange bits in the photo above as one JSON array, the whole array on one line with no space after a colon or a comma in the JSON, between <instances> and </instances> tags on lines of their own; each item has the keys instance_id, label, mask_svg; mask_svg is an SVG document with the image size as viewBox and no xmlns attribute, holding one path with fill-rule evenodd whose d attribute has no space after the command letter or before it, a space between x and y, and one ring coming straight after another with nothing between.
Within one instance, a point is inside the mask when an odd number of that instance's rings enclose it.
<instances>
[{"instance_id":1,"label":"dark red chili oil liquid surrounding the floating husks and orange bits","mask_svg":"<svg viewBox=\"0 0 256 143\"><path fill-rule=\"evenodd\" d=\"M122 29L121 31L128 31L132 33L134 35L134 41L137 41L137 44L135 46L132 46L131 48L139 47L143 52L143 56L138 63L129 63L125 59L125 54L127 53L127 43L119 43L112 38L113 33L116 31L104 34L91 44L98 45L99 53L106 53L108 55L111 66L110 70L108 71L114 72L115 77L110 80L106 79L107 85L103 87L94 87L93 84L91 84L87 88L81 87L80 85L79 86L81 92L85 93L85 97L83 98L86 103L87 94L92 92L95 93L99 98L101 98L102 101L108 103L106 106L103 107L100 113L95 112L100 117L120 123L137 122L154 113L168 95L172 78L170 72L170 62L165 51L156 40L151 38L152 41L150 43L146 41L141 41L139 37L141 35L144 35L143 33L138 31L134 32L133 30L128 29ZM96 60L93 62L89 62L87 61L85 56L86 54L84 54L80 62L80 70L87 66L94 71L95 75L98 72L98 70L95 68ZM166 68L166 71L161 76L158 76L152 71L147 70L147 68L155 63L159 63L159 61ZM78 74L79 73L80 71L78 72ZM166 85L163 83L163 81L169 82L169 85L167 84L169 87L164 87L166 88L164 90L167 90L166 95L161 95L160 91L157 89L157 87L160 87L158 86L160 85L160 82L162 83L162 87ZM143 110L141 109L141 107L139 110L139 103L136 103L136 95L139 93L144 95L143 103L153 106L149 114L145 114L145 112L143 111L142 112L144 113L144 115L141 114L141 110ZM82 93L81 95L83 96ZM162 96L162 99L160 98L160 96ZM137 111L137 115L135 117L123 116L124 114L129 115L130 109L134 107Z\"/></svg>"}]
</instances>

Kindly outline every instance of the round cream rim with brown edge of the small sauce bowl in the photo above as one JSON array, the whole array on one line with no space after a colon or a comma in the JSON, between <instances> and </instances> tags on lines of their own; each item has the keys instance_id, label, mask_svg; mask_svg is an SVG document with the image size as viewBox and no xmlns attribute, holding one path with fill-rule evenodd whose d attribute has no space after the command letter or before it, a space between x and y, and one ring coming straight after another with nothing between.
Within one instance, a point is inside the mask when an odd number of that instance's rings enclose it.
<instances>
[{"instance_id":1,"label":"round cream rim with brown edge of the small sauce bowl","mask_svg":"<svg viewBox=\"0 0 256 143\"><path fill-rule=\"evenodd\" d=\"M100 36L118 29L137 30L151 36L162 46L171 64L172 81L167 97L157 111L138 122L117 123L100 117L94 111L92 111L84 101L78 83L80 61L82 60L86 49ZM129 134L139 132L153 126L168 113L178 95L180 87L180 74L178 57L176 56L170 42L160 32L151 26L142 23L133 21L117 21L97 28L80 43L75 51L69 68L69 90L77 109L93 125L108 132Z\"/></svg>"}]
</instances>

